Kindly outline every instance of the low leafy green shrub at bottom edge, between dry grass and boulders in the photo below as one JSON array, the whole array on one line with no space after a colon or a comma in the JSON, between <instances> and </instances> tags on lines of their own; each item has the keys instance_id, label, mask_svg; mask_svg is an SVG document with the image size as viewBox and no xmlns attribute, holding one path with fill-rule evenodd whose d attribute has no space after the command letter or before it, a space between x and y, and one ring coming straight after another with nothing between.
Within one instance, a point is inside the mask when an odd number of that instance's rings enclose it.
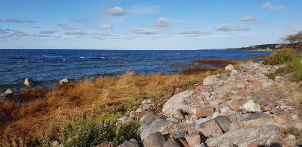
<instances>
[{"instance_id":1,"label":"low leafy green shrub at bottom edge, between dry grass and boulders","mask_svg":"<svg viewBox=\"0 0 302 147\"><path fill-rule=\"evenodd\" d=\"M103 142L119 145L131 138L137 139L138 128L139 124L135 122L116 124L106 117L86 118L74 124L64 124L59 141L64 146L95 146Z\"/></svg>"}]
</instances>

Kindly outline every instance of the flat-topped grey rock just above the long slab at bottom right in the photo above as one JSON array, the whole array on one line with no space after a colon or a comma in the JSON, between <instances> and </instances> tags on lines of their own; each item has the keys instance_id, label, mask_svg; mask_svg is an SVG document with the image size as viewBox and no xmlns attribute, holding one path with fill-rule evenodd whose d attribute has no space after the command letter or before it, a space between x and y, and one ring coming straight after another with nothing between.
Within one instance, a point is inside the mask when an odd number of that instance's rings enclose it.
<instances>
[{"instance_id":1,"label":"flat-topped grey rock just above the long slab at bottom right","mask_svg":"<svg viewBox=\"0 0 302 147\"><path fill-rule=\"evenodd\" d=\"M253 113L240 119L238 122L242 123L245 127L274 124L273 118L264 112Z\"/></svg>"}]
</instances>

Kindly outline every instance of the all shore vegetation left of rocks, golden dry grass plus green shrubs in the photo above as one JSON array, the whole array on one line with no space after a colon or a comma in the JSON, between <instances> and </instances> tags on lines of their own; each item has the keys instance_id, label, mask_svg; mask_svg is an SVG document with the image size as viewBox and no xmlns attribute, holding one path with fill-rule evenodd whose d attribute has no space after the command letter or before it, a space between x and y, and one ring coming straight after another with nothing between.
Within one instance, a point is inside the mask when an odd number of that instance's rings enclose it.
<instances>
[{"instance_id":1,"label":"all shore vegetation left of rocks, golden dry grass plus green shrubs","mask_svg":"<svg viewBox=\"0 0 302 147\"><path fill-rule=\"evenodd\" d=\"M137 129L135 122L115 124L121 114L135 110L146 98L155 106L163 105L175 93L193 89L205 76L218 72L186 76L126 73L65 84L55 90L24 91L0 101L0 146L47 146L54 140L66 146L104 141L119 144L135 138Z\"/></svg>"}]
</instances>

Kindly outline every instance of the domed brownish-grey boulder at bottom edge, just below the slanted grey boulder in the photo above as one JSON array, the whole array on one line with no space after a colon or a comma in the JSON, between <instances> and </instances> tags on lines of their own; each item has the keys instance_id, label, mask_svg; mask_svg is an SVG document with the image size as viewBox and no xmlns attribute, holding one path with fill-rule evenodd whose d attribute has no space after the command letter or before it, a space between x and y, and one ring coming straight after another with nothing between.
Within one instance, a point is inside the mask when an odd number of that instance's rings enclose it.
<instances>
[{"instance_id":1,"label":"domed brownish-grey boulder at bottom edge, just below the slanted grey boulder","mask_svg":"<svg viewBox=\"0 0 302 147\"><path fill-rule=\"evenodd\" d=\"M150 133L142 142L144 147L158 147L165 145L165 138L161 132Z\"/></svg>"}]
</instances>

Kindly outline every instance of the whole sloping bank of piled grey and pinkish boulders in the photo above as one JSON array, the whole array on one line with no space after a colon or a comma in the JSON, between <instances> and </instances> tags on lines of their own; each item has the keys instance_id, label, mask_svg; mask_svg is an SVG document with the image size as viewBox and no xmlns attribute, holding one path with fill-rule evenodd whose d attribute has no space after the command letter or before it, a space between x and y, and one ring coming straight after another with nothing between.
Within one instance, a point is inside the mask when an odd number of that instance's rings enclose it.
<instances>
[{"instance_id":1,"label":"whole sloping bank of piled grey and pinkish boulders","mask_svg":"<svg viewBox=\"0 0 302 147\"><path fill-rule=\"evenodd\" d=\"M230 72L208 76L164 105L145 100L118 119L140 122L142 144L131 139L119 146L301 146L302 115L295 105L300 84L286 75L268 77L281 66L228 65ZM154 107L162 112L152 112Z\"/></svg>"}]
</instances>

